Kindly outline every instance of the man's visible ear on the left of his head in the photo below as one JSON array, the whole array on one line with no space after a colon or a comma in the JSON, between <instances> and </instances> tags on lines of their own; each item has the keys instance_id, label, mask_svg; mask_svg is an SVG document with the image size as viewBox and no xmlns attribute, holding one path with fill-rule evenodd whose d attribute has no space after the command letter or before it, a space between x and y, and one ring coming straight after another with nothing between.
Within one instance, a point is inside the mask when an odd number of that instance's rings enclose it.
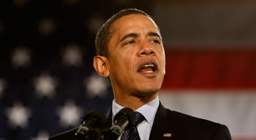
<instances>
[{"instance_id":1,"label":"man's visible ear on the left of his head","mask_svg":"<svg viewBox=\"0 0 256 140\"><path fill-rule=\"evenodd\" d=\"M95 56L93 59L93 67L96 70L96 72L103 76L108 77L109 75L109 69L107 67L108 59L105 56Z\"/></svg>"}]
</instances>

